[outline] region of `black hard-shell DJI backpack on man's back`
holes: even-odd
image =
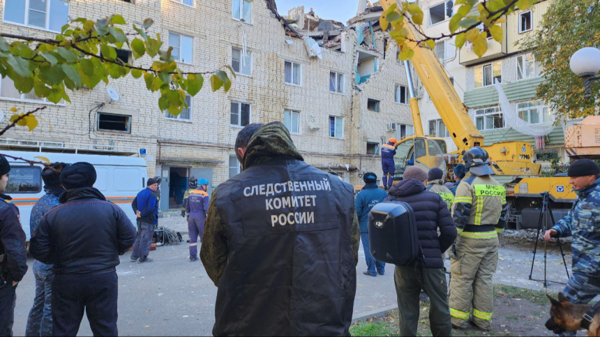
[[[414,211],[406,202],[376,204],[369,213],[369,250],[375,260],[424,267]]]

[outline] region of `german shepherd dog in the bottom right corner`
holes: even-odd
[[[552,308],[550,309],[550,319],[546,322],[546,328],[554,331],[555,334],[561,334],[564,331],[577,331],[583,329],[581,321],[583,315],[592,307],[590,304],[572,304],[567,301],[562,293],[558,293],[558,301],[546,294]],[[594,314],[587,336],[600,337],[600,311]]]

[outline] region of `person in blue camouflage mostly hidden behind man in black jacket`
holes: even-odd
[[[31,237],[36,233],[44,214],[61,204],[59,197],[65,189],[61,186],[59,177],[66,166],[65,163],[54,163],[42,170],[46,195],[40,197],[31,209],[31,218],[29,218]],[[36,297],[33,299],[33,307],[27,318],[25,336],[52,336],[52,280],[54,280],[52,264],[33,260],[33,275],[36,276]]]

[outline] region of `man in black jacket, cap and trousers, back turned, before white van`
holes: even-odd
[[[29,253],[54,264],[52,335],[77,336],[87,313],[94,336],[117,336],[119,255],[135,241],[135,227],[123,210],[93,188],[96,170],[89,163],[65,167],[66,188],[43,216]]]

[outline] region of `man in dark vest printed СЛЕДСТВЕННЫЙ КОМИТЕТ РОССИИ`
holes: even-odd
[[[256,126],[246,128],[238,138]],[[360,237],[352,186],[304,163],[280,122],[241,143],[243,172],[213,191],[200,251],[218,286],[213,334],[348,335]]]

